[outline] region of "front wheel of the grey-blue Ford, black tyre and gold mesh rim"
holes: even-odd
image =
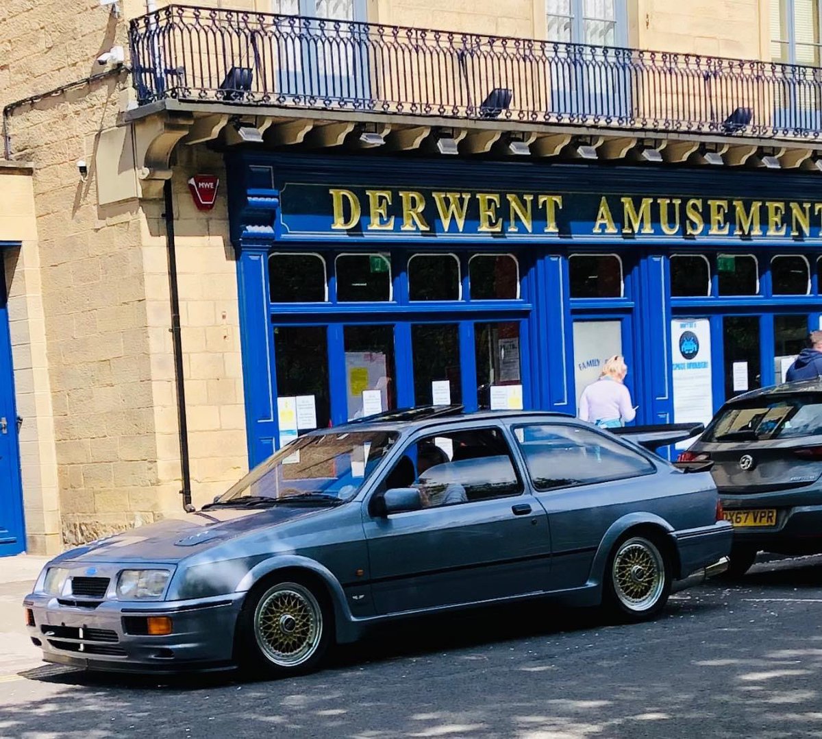
[[[256,588],[240,616],[240,660],[266,676],[312,672],[331,634],[325,598],[295,580]]]

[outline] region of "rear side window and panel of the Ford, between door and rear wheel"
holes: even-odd
[[[657,473],[643,453],[586,425],[535,422],[515,426],[534,496],[551,529],[550,588],[578,588],[588,580],[605,532],[625,514],[662,507],[664,485],[640,482]],[[654,492],[656,490],[656,492]]]

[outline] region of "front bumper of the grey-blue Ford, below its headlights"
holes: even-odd
[[[173,602],[104,601],[95,608],[62,605],[32,593],[32,642],[46,662],[113,672],[180,672],[233,667],[234,632],[245,593]],[[167,616],[171,633],[136,633],[147,616]]]

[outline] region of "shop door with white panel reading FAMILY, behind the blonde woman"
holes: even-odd
[[[614,355],[625,357],[628,374],[625,384],[634,397],[635,365],[630,351],[629,318],[597,318],[574,321],[574,383],[576,405],[582,391],[599,379],[605,361]],[[641,411],[637,411],[640,413]]]

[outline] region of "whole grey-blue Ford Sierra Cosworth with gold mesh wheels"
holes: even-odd
[[[53,559],[29,634],[47,662],[289,675],[432,611],[553,597],[649,619],[723,569],[732,528],[709,472],[633,438],[459,407],[313,431],[201,510]]]

